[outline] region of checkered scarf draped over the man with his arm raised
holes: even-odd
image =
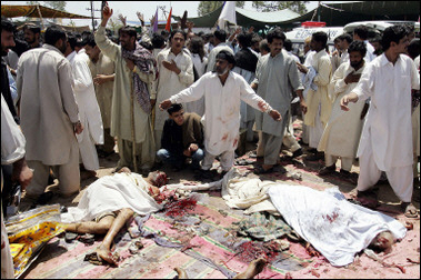
[[[153,58],[152,53],[150,53],[147,49],[141,47],[138,42],[136,42],[134,50],[129,51],[122,49],[122,57],[124,59],[132,60],[141,72],[151,73],[153,68],[158,76],[158,67],[156,59]],[[138,100],[140,107],[143,109],[146,113],[151,113],[152,107],[147,83],[140,80],[139,74],[133,73],[133,84],[134,97]]]

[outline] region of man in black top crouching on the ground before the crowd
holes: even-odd
[[[180,171],[187,158],[192,160],[192,169],[199,169],[204,157],[203,128],[197,113],[184,113],[181,104],[172,104],[168,110],[169,119],[162,130],[161,149],[157,157]]]

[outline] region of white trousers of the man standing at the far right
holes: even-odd
[[[368,146],[364,153],[360,157],[360,176],[358,178],[357,190],[367,191],[373,187],[379,181],[381,172],[382,170],[375,164],[372,147]],[[402,202],[411,202],[413,191],[412,166],[393,167],[387,170],[385,174],[394,194]]]

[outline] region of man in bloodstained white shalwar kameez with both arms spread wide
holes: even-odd
[[[217,72],[203,74],[190,88],[160,103],[160,109],[164,110],[172,103],[190,102],[204,96],[202,123],[206,156],[202,170],[210,170],[218,156],[223,172],[232,168],[239,141],[241,100],[254,109],[265,111],[272,119],[281,120],[279,112],[255,94],[244,78],[231,71],[234,64],[232,53],[220,51],[217,56]]]

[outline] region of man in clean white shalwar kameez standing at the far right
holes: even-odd
[[[357,88],[341,100],[342,109],[348,111],[349,102],[371,98],[357,153],[360,158],[358,197],[362,203],[375,203],[377,198],[369,189],[378,182],[381,171],[385,171],[402,201],[404,214],[417,217],[411,203],[411,89],[420,89],[420,78],[411,58],[402,54],[409,44],[405,28],[387,28],[382,44],[384,53],[365,67]]]

